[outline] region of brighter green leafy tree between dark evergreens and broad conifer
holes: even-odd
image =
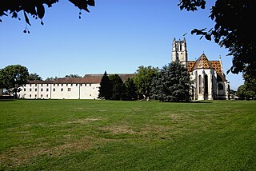
[[[145,97],[149,97],[151,83],[153,78],[158,73],[158,68],[152,66],[139,66],[138,70],[134,76],[134,83],[138,90],[138,94],[141,94]]]

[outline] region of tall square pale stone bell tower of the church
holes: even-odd
[[[186,67],[187,62],[187,50],[186,50],[186,39],[178,41],[174,38],[173,47],[171,52],[171,62],[179,61]]]

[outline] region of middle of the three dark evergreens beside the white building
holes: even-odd
[[[110,75],[110,82],[112,85],[112,96],[111,100],[121,100],[123,94],[123,82],[118,74]]]

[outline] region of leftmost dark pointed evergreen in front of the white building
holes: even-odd
[[[100,99],[109,100],[112,97],[112,85],[106,71],[103,74],[98,92],[98,98]]]

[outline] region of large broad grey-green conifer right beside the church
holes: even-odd
[[[160,101],[189,101],[190,74],[180,62],[163,66],[152,82],[151,96]]]

